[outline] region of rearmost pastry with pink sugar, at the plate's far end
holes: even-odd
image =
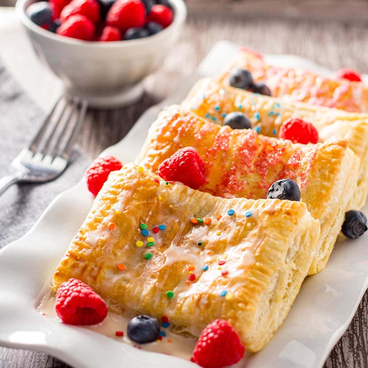
[[[250,71],[255,82],[266,83],[272,96],[288,96],[293,101],[351,112],[368,112],[368,88],[362,82],[335,80],[309,70],[273,66],[261,54],[250,50],[239,52],[220,76],[225,84],[229,83],[229,72],[234,68]]]

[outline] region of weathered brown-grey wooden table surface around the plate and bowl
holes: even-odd
[[[272,17],[267,20],[224,19],[221,14],[211,13],[206,17],[190,14],[180,41],[167,55],[161,70],[146,80],[147,92],[142,100],[118,110],[89,111],[79,144],[84,152],[95,157],[107,146],[118,142],[142,112],[173,92],[180,79],[193,72],[220,39],[228,39],[260,52],[297,54],[332,69],[351,67],[368,73],[366,26],[364,22],[286,21]],[[353,321],[336,344],[325,367],[368,368],[367,295],[364,295]],[[67,366],[44,353],[0,347],[0,367]]]

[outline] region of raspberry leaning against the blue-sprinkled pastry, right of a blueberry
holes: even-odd
[[[290,139],[290,141],[294,143],[317,143],[318,131],[307,121],[298,118],[290,118],[281,125],[279,138]]]

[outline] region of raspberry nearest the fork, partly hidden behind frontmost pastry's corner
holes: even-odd
[[[85,173],[88,190],[97,195],[110,172],[120,170],[121,167],[121,162],[113,156],[96,158]]]

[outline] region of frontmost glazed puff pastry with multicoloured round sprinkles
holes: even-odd
[[[175,330],[194,335],[227,319],[245,347],[258,351],[287,315],[318,236],[302,202],[213,197],[127,164],[99,192],[52,289],[75,277],[114,312],[167,316]]]

